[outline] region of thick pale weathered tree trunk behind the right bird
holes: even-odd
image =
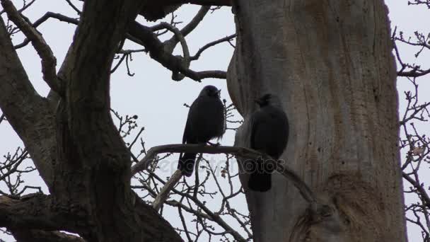
[[[262,241],[406,241],[395,62],[382,0],[238,0],[228,91],[245,123],[263,93],[281,96],[291,134],[282,159],[329,204],[315,221],[288,180],[247,191]],[[247,175],[242,175],[246,187]]]

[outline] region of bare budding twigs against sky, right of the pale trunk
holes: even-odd
[[[409,5],[429,8],[429,1],[408,1]],[[426,179],[430,163],[429,130],[429,101],[422,100],[424,88],[420,81],[428,81],[430,67],[424,66],[419,57],[430,50],[430,33],[414,31],[407,36],[397,27],[393,30],[395,57],[397,60],[398,81],[408,84],[405,93],[399,93],[405,98],[406,107],[400,110],[400,149],[402,150],[402,176],[405,180],[405,196],[409,201],[405,204],[407,222],[421,231],[422,241],[430,241],[430,198],[429,181]],[[405,61],[405,47],[414,48],[414,60]],[[411,59],[411,58],[407,58]]]

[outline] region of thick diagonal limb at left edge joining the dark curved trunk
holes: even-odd
[[[54,114],[28,79],[0,19],[0,108],[27,147],[48,188],[55,159]]]

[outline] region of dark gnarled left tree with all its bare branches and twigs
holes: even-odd
[[[216,8],[202,6],[192,21],[179,29],[176,27],[175,15],[172,15],[170,23],[144,26],[135,22],[134,18],[140,12],[134,12],[135,9],[142,9],[141,14],[148,19],[161,18],[166,13],[164,5],[144,5],[134,1],[91,3],[94,5],[85,3],[83,9],[74,5],[74,2],[67,1],[76,11],[78,19],[48,12],[31,23],[23,12],[34,2],[23,1],[23,7],[16,9],[11,1],[1,1],[4,7],[1,13],[7,14],[8,18],[8,25],[1,26],[1,52],[5,53],[1,59],[1,69],[4,70],[1,72],[1,79],[4,80],[1,88],[8,93],[1,97],[3,111],[1,121],[7,118],[6,121],[16,129],[26,147],[17,149],[15,154],[8,154],[1,169],[3,174],[1,178],[9,188],[2,197],[4,202],[2,213],[5,217],[1,226],[5,226],[8,233],[13,234],[19,241],[34,241],[35,238],[40,241],[81,240],[58,231],[79,234],[87,241],[141,241],[141,239],[178,241],[180,240],[178,235],[181,233],[190,240],[197,240],[200,236],[209,236],[209,238],[219,236],[225,240],[241,241],[249,239],[251,234],[248,210],[235,208],[230,203],[234,197],[243,195],[243,190],[240,185],[237,185],[237,171],[236,174],[229,172],[233,157],[231,155],[226,155],[226,163],[222,168],[209,166],[208,161],[202,158],[200,163],[201,166],[207,167],[207,173],[201,179],[197,178],[194,184],[187,184],[185,180],[176,184],[173,192],[177,196],[172,195],[168,201],[162,201],[178,209],[183,221],[183,228],[176,229],[180,233],[177,233],[155,209],[149,206],[160,192],[160,186],[165,183],[165,180],[155,171],[159,162],[166,156],[158,156],[145,171],[134,169],[135,179],[141,185],[130,185],[132,162],[137,162],[141,159],[139,156],[146,154],[143,139],[140,139],[140,154],[131,154],[130,150],[133,145],[139,143],[139,137],[144,129],[136,129],[138,127],[136,115],[123,117],[111,110],[107,93],[109,76],[121,64],[125,64],[127,73],[133,75],[132,70],[129,69],[129,62],[132,61],[132,54],[138,52],[149,53],[153,59],[171,69],[173,79],[177,81],[184,76],[189,76],[196,81],[209,77],[225,78],[225,71],[192,71],[189,69],[190,62],[199,59],[205,50],[214,45],[221,42],[231,43],[235,34],[207,43],[194,55],[190,55],[185,42],[185,36],[197,27],[208,12]],[[123,9],[126,14],[113,13],[116,9]],[[104,13],[96,15],[95,13],[100,10]],[[45,21],[51,19],[79,25],[74,44],[71,45],[69,54],[58,73],[52,50],[36,30]],[[114,23],[108,27],[109,30],[105,29],[107,26],[104,24],[108,19]],[[102,25],[104,27],[100,28]],[[158,36],[168,32],[173,33],[173,37],[161,42]],[[23,33],[25,40],[13,47],[10,39],[17,33]],[[91,34],[88,35],[88,33]],[[91,40],[86,39],[89,36],[92,36]],[[142,48],[123,49],[126,39],[137,42]],[[100,45],[100,40],[103,40],[101,41],[103,45]],[[29,43],[40,55],[43,78],[52,88],[47,98],[42,98],[35,92],[14,50],[25,47]],[[181,45],[183,57],[173,55],[176,45]],[[96,50],[95,47],[101,49]],[[105,48],[109,50],[105,51]],[[86,57],[79,54],[83,53],[81,50],[84,49],[88,50]],[[100,51],[103,54],[100,55],[98,53]],[[97,59],[95,62],[94,58]],[[81,60],[78,61],[78,59]],[[117,62],[112,64],[114,59],[117,59]],[[88,62],[91,62],[91,65],[88,65]],[[92,67],[89,68],[90,66]],[[93,72],[91,69],[97,70]],[[86,84],[81,86],[78,83],[80,81]],[[74,89],[72,86],[79,87],[79,90],[71,91]],[[226,116],[232,124],[240,122],[231,120],[233,110],[232,105],[226,105]],[[80,113],[79,117],[75,116],[78,113]],[[88,116],[89,113],[93,115]],[[115,121],[112,120],[110,113],[115,117],[119,130],[115,127]],[[134,131],[137,131],[135,137],[127,142],[127,138],[131,137]],[[95,133],[98,133],[97,137],[93,136]],[[79,142],[78,139],[83,137],[86,137],[87,141]],[[28,154],[31,155],[37,171],[48,186],[50,195],[43,195],[40,188],[23,187],[20,174],[35,170],[32,167],[21,168],[23,161],[29,158]],[[214,179],[216,184],[221,184],[216,175],[219,172],[224,174],[221,178],[225,177],[229,189],[223,192],[219,185],[219,191],[207,191],[205,184],[208,179]],[[12,173],[15,176],[12,176]],[[235,186],[233,186],[233,179],[237,180],[234,183]],[[37,189],[39,192],[21,196],[30,188]],[[136,195],[134,190],[136,192],[144,190],[144,192]],[[220,192],[219,196],[222,197],[221,207],[216,212],[212,212],[212,208],[208,208],[209,205],[202,200],[202,196],[214,197],[217,192]],[[110,202],[99,204],[102,201]],[[25,217],[25,214],[33,215]],[[204,214],[203,217],[202,214]],[[188,220],[192,216],[196,217],[195,229],[190,228],[191,225],[188,225],[187,229],[185,217]],[[231,228],[231,221],[226,222],[226,217],[231,217],[236,224],[243,227],[245,238]],[[149,222],[151,225],[144,226]]]

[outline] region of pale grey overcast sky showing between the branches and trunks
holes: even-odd
[[[22,1],[13,0],[13,3],[21,6]],[[407,0],[387,0],[385,3],[390,8],[392,29],[395,26],[399,26],[399,30],[404,31],[407,36],[412,35],[415,30],[430,33],[430,25],[428,24],[429,9],[424,6],[407,6]],[[180,8],[176,12],[178,15],[177,21],[187,23],[197,13],[198,9],[199,7],[197,6]],[[66,4],[66,1],[59,0],[37,0],[34,6],[24,13],[31,21],[35,21],[46,11],[76,17]],[[3,18],[5,17],[4,15],[2,16]],[[61,64],[71,44],[75,26],[52,20],[43,23],[38,30],[43,33],[43,37],[52,47],[57,57],[57,63]],[[234,32],[233,15],[230,8],[221,8],[221,10],[208,14],[201,25],[187,37],[190,52],[194,54],[199,47],[202,47],[207,42],[223,38]],[[15,44],[21,40],[22,36],[20,35],[13,39]],[[126,46],[129,48],[136,47],[130,44]],[[414,50],[407,46],[401,46],[401,50],[405,60],[415,61]],[[45,96],[49,89],[45,82],[42,81],[40,59],[37,57],[33,47],[28,45],[28,47],[19,50],[18,54],[33,85],[40,94]],[[233,48],[228,43],[217,45],[204,52],[197,62],[192,62],[191,68],[194,70],[221,69],[225,71],[232,54]],[[203,86],[212,84],[221,88],[221,98],[226,98],[228,103],[231,102],[226,91],[225,80],[204,79],[202,83],[197,83],[191,79],[184,79],[176,82],[171,80],[170,71],[162,67],[158,62],[151,60],[146,54],[134,54],[133,60],[130,64],[131,71],[135,74],[133,77],[127,76],[127,69],[125,69],[124,65],[112,75],[112,108],[123,115],[129,114],[142,117],[139,118],[138,122],[140,126],[145,127],[144,140],[146,148],[160,144],[180,143],[182,141],[182,132],[188,111],[183,106],[183,103],[192,103]],[[422,54],[418,61],[424,67],[429,67],[429,54]],[[424,96],[424,90],[427,90],[427,93],[430,90],[429,78],[421,79],[420,83],[422,84],[420,88],[423,90],[422,101],[425,100],[424,98],[429,100],[430,96]],[[405,104],[405,102],[402,102],[404,99],[402,93],[408,88],[411,88],[411,86],[407,84],[406,80],[398,80],[401,98],[400,109],[404,108]],[[233,144],[233,137],[233,132],[227,132],[222,144]],[[6,154],[8,151],[13,152],[16,146],[21,144],[22,142],[13,132],[13,129],[2,123],[0,125],[0,154]],[[176,158],[173,157],[172,159],[175,160]],[[32,175],[29,179],[37,180],[37,174]],[[243,197],[242,202],[245,203],[244,199]],[[410,226],[408,230],[409,241],[419,241],[421,238],[420,234],[418,234],[419,230]],[[0,235],[0,238],[13,241],[10,236]]]

